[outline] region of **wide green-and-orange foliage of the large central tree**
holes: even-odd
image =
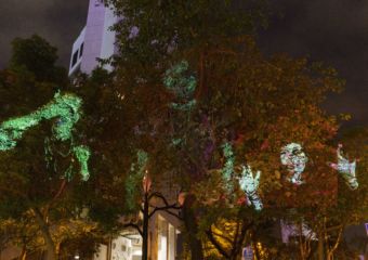
[[[338,121],[320,103],[344,84],[334,69],[287,55],[264,57],[249,36],[264,13],[250,1],[107,2],[124,16],[115,27],[116,72],[96,69],[78,89],[87,102],[83,128],[97,151],[93,169],[104,172],[81,190],[90,216],[118,226],[119,213],[133,208],[143,177],[139,161],[129,170],[137,147],[149,154],[154,177],[172,172],[196,195],[197,235],[203,239],[213,225],[228,230],[227,221],[235,226],[253,221],[257,233],[271,217],[318,224],[328,208],[350,212],[341,203],[354,195],[346,193],[336,204],[337,174],[326,165],[334,157],[329,145]],[[279,159],[280,147],[291,142],[303,144],[310,158],[306,184],[300,187],[285,181],[288,171]],[[244,205],[237,185],[235,199],[225,198],[231,169],[237,177],[244,162],[262,171],[259,214]],[[298,212],[285,210],[290,207]],[[320,214],[311,216],[311,207]],[[233,246],[238,245],[226,250]]]

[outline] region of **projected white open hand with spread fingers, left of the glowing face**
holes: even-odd
[[[260,211],[263,208],[263,204],[257,190],[260,185],[261,171],[257,171],[255,177],[253,177],[250,166],[241,166],[241,168],[242,172],[241,178],[239,179],[240,188],[247,194],[248,206],[253,205],[255,210]]]

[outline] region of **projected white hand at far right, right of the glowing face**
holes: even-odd
[[[342,144],[339,144],[337,148],[338,164],[330,164],[330,166],[337,171],[339,171],[339,173],[344,178],[350,188],[356,190],[359,185],[355,176],[356,160],[350,162],[349,159],[342,156],[341,148]]]

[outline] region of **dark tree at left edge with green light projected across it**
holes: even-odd
[[[65,121],[68,119],[63,119],[56,114],[50,118],[42,114],[43,112],[57,110],[57,102],[49,103],[49,106],[31,114],[48,103],[56,89],[67,87],[66,70],[55,66],[56,58],[56,49],[38,36],[32,36],[29,39],[15,39],[11,65],[0,74],[0,99],[4,108],[0,115],[1,142],[5,141],[2,138],[8,136],[3,123],[10,117],[14,119],[17,116],[29,115],[25,119],[29,119],[28,123],[34,126],[26,133],[23,130],[28,127],[18,132],[12,132],[19,136],[24,134],[22,140],[16,140],[18,143],[14,150],[3,152],[2,147],[0,154],[0,217],[1,219],[13,219],[26,229],[36,226],[37,235],[28,238],[35,243],[41,234],[42,246],[47,248],[47,258],[50,260],[56,259],[57,245],[61,243],[55,237],[53,227],[60,226],[62,222],[65,224],[78,216],[79,212],[76,211],[78,205],[73,199],[73,191],[82,185],[80,179],[71,180],[74,173],[79,172],[78,167],[73,169],[74,160],[78,157],[69,153],[73,144],[61,142],[64,138],[48,138],[54,134],[63,135],[62,125],[69,123],[73,119]],[[62,96],[65,98],[65,95]],[[78,98],[75,101],[77,100],[79,101]],[[48,118],[51,121],[36,120],[31,116],[40,116],[39,119]],[[53,120],[54,117],[64,121]],[[19,117],[17,118],[19,119]],[[16,119],[8,120],[8,122],[10,121],[21,122],[21,119],[18,121]],[[67,131],[67,133],[69,132],[71,133],[73,129]],[[13,138],[16,139],[15,135]],[[74,141],[77,140],[82,140],[82,138],[77,135]],[[88,225],[88,223],[86,224]],[[28,240],[23,243],[26,249],[28,244]]]

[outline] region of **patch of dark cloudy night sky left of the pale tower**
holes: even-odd
[[[38,34],[58,49],[68,66],[74,39],[86,24],[89,0],[0,0],[0,68],[6,66],[11,41]]]

